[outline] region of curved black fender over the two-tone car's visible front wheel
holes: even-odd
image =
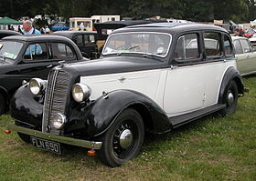
[[[107,96],[101,96],[81,111],[73,111],[69,116],[67,128],[83,127],[88,136],[104,133],[115,118],[127,107],[136,109],[142,117],[147,117],[155,133],[164,133],[171,129],[165,112],[151,98],[132,90],[116,90]],[[72,128],[71,128],[72,129]],[[71,130],[69,130],[71,131]]]

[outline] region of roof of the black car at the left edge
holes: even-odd
[[[69,38],[60,35],[10,35],[2,38],[2,40],[16,40],[25,42],[50,42],[50,41],[69,41]]]

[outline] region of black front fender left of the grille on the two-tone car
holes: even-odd
[[[27,126],[41,129],[43,105],[37,102],[39,98],[31,93],[28,84],[20,86],[11,99],[10,115],[16,121],[22,121],[24,124],[26,121]]]

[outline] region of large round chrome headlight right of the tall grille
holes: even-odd
[[[91,88],[88,85],[77,83],[73,85],[72,96],[77,102],[82,102],[91,96]]]

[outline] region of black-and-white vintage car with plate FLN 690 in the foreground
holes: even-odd
[[[21,86],[10,106],[15,125],[5,133],[14,130],[58,154],[62,144],[86,147],[107,166],[121,166],[138,155],[145,132],[164,134],[214,112],[231,114],[243,93],[223,28],[124,27],[108,37],[100,59],[59,65],[48,81],[35,77]]]

